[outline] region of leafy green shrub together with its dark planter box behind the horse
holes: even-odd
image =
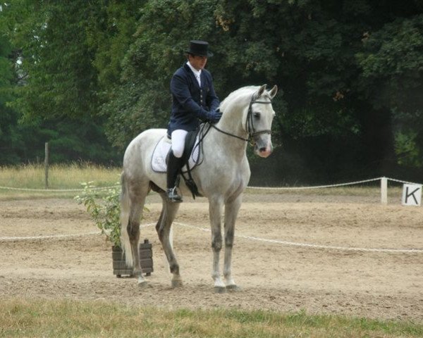
[[[82,183],[82,193],[75,196],[79,204],[84,204],[95,225],[102,231],[106,240],[111,243],[114,275],[133,276],[133,268],[125,262],[125,253],[121,249],[121,204],[118,186],[99,189],[92,182]],[[150,275],[153,271],[152,244],[148,239],[140,244],[140,261],[142,271]]]

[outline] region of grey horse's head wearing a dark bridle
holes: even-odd
[[[254,144],[255,154],[267,157],[273,151],[271,144],[271,123],[275,112],[271,106],[271,99],[278,92],[275,85],[271,91],[266,90],[266,84],[259,87],[252,95],[250,106],[245,116],[245,131]]]

